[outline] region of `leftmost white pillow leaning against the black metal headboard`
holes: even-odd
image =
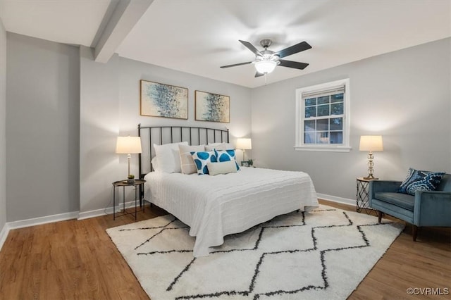
[[[157,145],[154,144],[156,165],[161,172],[180,173],[180,151],[178,145],[188,142]]]

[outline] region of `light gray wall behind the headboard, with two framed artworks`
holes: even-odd
[[[112,206],[111,182],[127,175],[127,158],[115,154],[116,137],[137,135],[137,125],[228,127],[230,141],[250,136],[251,91],[187,73],[113,56],[96,63],[92,50],[80,49],[80,218]],[[140,115],[140,80],[188,88],[188,120]],[[194,90],[230,96],[230,123],[194,121]],[[137,175],[137,155],[131,159]]]

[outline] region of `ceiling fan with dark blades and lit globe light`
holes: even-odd
[[[255,77],[263,76],[265,74],[271,73],[276,65],[281,65],[283,67],[295,68],[299,70],[304,70],[304,68],[309,65],[308,63],[298,63],[297,61],[285,61],[283,58],[285,56],[290,56],[292,54],[297,54],[298,52],[305,51],[307,49],[311,49],[311,46],[307,42],[300,42],[299,44],[295,44],[293,46],[289,46],[283,50],[274,52],[268,50],[268,46],[271,46],[271,39],[262,39],[260,44],[264,47],[263,51],[258,51],[251,43],[239,40],[241,44],[245,45],[247,49],[252,51],[255,54],[255,61],[247,61],[246,63],[235,63],[233,65],[223,65],[221,68],[230,68],[236,67],[237,65],[248,65],[249,63],[253,63],[257,70],[255,73]]]

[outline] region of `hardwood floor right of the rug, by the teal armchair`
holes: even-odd
[[[320,203],[355,211],[352,206],[324,200]],[[408,288],[416,293],[423,289],[423,294],[409,295]],[[441,295],[424,292],[427,288],[435,293],[440,288]],[[420,228],[413,242],[412,225],[406,225],[348,299],[451,299],[451,228]]]

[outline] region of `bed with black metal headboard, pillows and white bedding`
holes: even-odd
[[[307,173],[239,167],[234,157],[227,162],[208,164],[212,171],[218,165],[228,165],[230,168],[226,173],[199,175],[202,172],[199,169],[196,173],[185,172],[180,158],[185,148],[201,149],[203,146],[204,151],[217,157],[221,157],[221,153],[234,153],[233,146],[228,143],[228,130],[138,125],[138,133],[143,140],[143,153],[139,156],[140,178],[147,181],[142,195],[146,201],[190,226],[190,235],[196,237],[194,257],[208,256],[210,247],[223,244],[226,235],[243,232],[277,215],[296,210],[311,211],[319,206]],[[156,163],[155,159],[162,157],[161,149],[165,147],[171,149],[165,150],[166,158],[171,163],[172,160],[177,163],[179,158],[182,171],[177,172],[177,167],[173,171],[173,165],[161,170],[161,165]],[[204,152],[189,152],[193,158],[197,153]],[[191,158],[189,154],[187,156]],[[240,170],[232,170],[232,164]]]

